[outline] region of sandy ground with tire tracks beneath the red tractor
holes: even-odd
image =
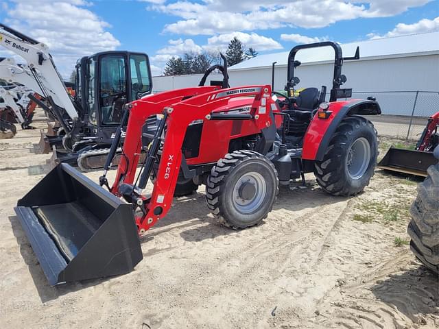
[[[0,328],[439,326],[438,277],[405,244],[417,181],[382,171],[355,198],[307,175],[308,188],[282,188],[268,219],[241,231],[217,224],[200,188],[147,232],[132,273],[50,287],[13,210],[44,176],[38,138],[0,141]]]

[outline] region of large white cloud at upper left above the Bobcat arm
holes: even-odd
[[[110,32],[110,24],[82,0],[52,2],[19,0],[6,11],[6,24],[49,46],[63,77],[69,77],[76,60],[99,51],[115,50],[121,43]]]

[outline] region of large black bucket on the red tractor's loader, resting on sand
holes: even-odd
[[[128,273],[143,258],[130,204],[59,164],[14,208],[52,286]]]

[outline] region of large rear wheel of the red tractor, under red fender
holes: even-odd
[[[314,164],[317,182],[332,195],[361,193],[374,175],[377,130],[363,117],[346,117],[335,130],[322,161]]]

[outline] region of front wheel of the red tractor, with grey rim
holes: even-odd
[[[207,206],[224,226],[248,228],[268,216],[278,185],[268,158],[255,151],[234,151],[218,160],[207,178]]]

